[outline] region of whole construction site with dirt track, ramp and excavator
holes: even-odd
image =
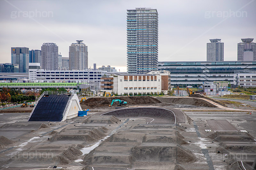
[[[253,170],[256,103],[243,102],[45,91],[0,111],[0,169]]]

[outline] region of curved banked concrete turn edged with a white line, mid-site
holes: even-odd
[[[157,107],[122,108],[101,115],[113,115],[119,119],[143,118],[146,122],[154,123],[176,123],[176,116],[171,110]]]

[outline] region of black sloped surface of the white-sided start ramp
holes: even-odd
[[[68,99],[65,94],[42,97],[28,121],[60,122]]]

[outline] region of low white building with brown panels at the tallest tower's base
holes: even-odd
[[[167,94],[171,88],[169,71],[154,71],[147,74],[117,73],[101,78],[101,91],[118,95]]]

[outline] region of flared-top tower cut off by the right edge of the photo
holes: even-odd
[[[237,43],[237,61],[256,61],[256,43],[253,38],[243,38]]]

